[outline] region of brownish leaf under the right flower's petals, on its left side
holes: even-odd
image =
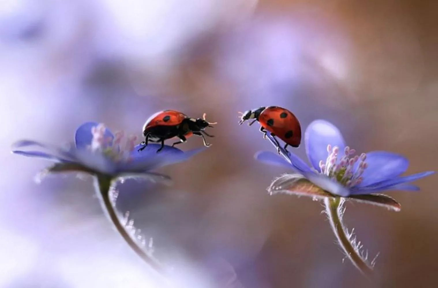
[[[272,181],[269,194],[285,193],[307,196],[316,199],[335,198],[336,196],[311,183],[301,174],[285,174]]]

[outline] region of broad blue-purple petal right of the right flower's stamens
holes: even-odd
[[[367,153],[365,162],[368,163],[368,167],[362,174],[364,180],[359,185],[360,187],[393,179],[405,173],[409,166],[409,161],[405,157],[386,151]],[[358,163],[359,161],[355,165],[356,168]]]

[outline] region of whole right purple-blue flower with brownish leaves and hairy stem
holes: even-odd
[[[397,201],[378,192],[420,190],[409,182],[427,177],[434,172],[401,176],[409,165],[405,157],[385,151],[357,155],[354,149],[346,146],[338,128],[325,120],[313,121],[304,134],[311,167],[295,154],[280,147],[271,135],[268,135],[268,139],[279,149],[283,157],[266,151],[258,152],[254,157],[261,162],[295,171],[274,180],[268,192],[304,195],[324,200],[325,212],[339,245],[362,273],[370,275],[374,260],[371,263],[367,261],[367,254],[362,253],[360,242],[356,241],[353,233],[348,232],[344,226],[344,201],[354,200],[399,211],[401,206]]]

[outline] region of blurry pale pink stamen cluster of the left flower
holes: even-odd
[[[122,145],[124,140],[123,131],[116,132],[114,139],[112,137],[105,137],[105,131],[106,127],[103,124],[94,126],[91,129],[93,138],[89,149],[93,152],[100,151],[114,161],[129,161],[131,159],[131,152],[134,151],[137,136],[131,135],[127,137],[126,141],[124,141],[124,145]]]

